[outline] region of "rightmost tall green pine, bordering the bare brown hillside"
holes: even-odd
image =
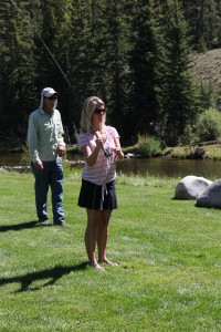
[[[164,72],[165,138],[176,145],[185,127],[194,122],[198,108],[193,80],[190,74],[190,44],[188,25],[179,1],[165,4],[165,49],[167,60]]]

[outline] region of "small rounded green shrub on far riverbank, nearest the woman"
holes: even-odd
[[[161,141],[157,137],[138,135],[136,148],[141,155],[146,157],[152,157],[161,153],[162,144]]]

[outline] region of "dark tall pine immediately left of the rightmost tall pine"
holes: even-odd
[[[131,14],[131,121],[136,133],[152,134],[160,113],[161,59],[160,30],[155,1],[138,0]]]

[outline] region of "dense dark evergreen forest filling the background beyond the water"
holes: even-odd
[[[176,145],[210,106],[192,56],[221,48],[221,0],[1,0],[0,28],[1,139],[25,132],[46,86],[72,143],[91,95],[124,145]]]

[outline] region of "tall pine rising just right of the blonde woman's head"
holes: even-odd
[[[108,120],[117,127],[122,139],[126,139],[125,114],[129,94],[128,28],[126,24],[127,1],[110,0],[103,7],[103,31],[97,30],[97,64],[103,72],[95,79],[101,82],[101,93],[108,105]],[[104,39],[105,35],[105,39]],[[99,46],[102,45],[102,48]],[[126,129],[126,132],[125,132]]]

